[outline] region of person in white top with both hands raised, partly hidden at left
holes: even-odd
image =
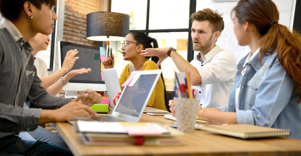
[[[91,68],[82,68],[82,69],[77,69],[77,70],[71,70],[71,68],[74,65],[74,62],[79,58],[75,57],[75,55],[78,53],[77,49],[70,50],[67,52],[67,55],[64,59],[62,68],[60,70],[57,70],[55,73],[51,74],[48,76],[48,71],[47,71],[47,65],[46,63],[39,57],[36,57],[36,54],[39,51],[46,50],[47,46],[49,44],[50,38],[47,35],[37,33],[37,35],[31,39],[29,39],[29,43],[33,48],[32,54],[33,58],[35,59],[34,65],[36,66],[37,69],[37,75],[38,77],[42,80],[41,86],[47,89],[47,92],[51,95],[57,95],[62,88],[64,87],[63,82],[58,82],[60,78],[67,73],[64,77],[63,80],[65,82],[68,82],[73,76],[77,74],[83,74],[83,73],[88,73],[91,71]],[[71,70],[71,71],[70,71]],[[56,83],[55,85],[53,85]],[[53,85],[53,86],[51,86]],[[51,86],[51,87],[50,87]]]

